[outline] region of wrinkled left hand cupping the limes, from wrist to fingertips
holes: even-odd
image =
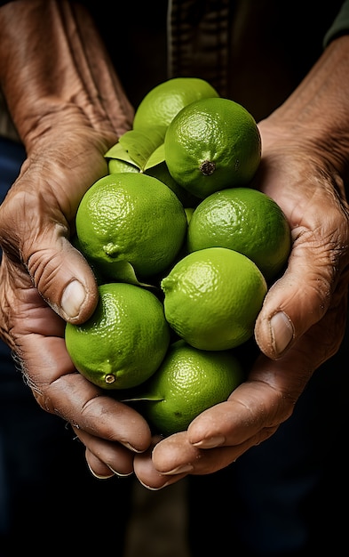
[[[50,129],[0,207],[1,335],[39,405],[73,425],[91,471],[129,474],[134,452],[149,446],[147,423],[76,373],[63,338],[65,319],[83,322],[97,303],[95,278],[69,237],[83,193],[107,174],[103,153],[115,134],[71,118]]]

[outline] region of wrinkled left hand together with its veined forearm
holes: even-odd
[[[103,155],[130,129],[133,109],[83,5],[10,2],[0,27],[0,80],[28,153],[0,207],[1,336],[40,406],[73,425],[91,471],[129,474],[134,452],[149,446],[147,423],[76,372],[63,335],[98,298],[69,242],[76,209],[107,174]]]

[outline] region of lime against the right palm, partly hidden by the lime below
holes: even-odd
[[[286,264],[291,247],[290,225],[274,199],[251,188],[212,193],[196,206],[187,233],[189,252],[229,247],[249,257],[267,281]]]

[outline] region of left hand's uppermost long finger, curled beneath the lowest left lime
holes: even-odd
[[[28,275],[18,267],[17,274],[4,272],[2,277],[8,283],[5,319],[12,349],[39,405],[94,437],[131,451],[146,450],[151,442],[146,420],[75,370],[64,341],[66,323],[44,302]]]

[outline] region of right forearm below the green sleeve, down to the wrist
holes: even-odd
[[[268,118],[282,134],[320,150],[349,177],[349,36],[334,40],[296,91]]]

